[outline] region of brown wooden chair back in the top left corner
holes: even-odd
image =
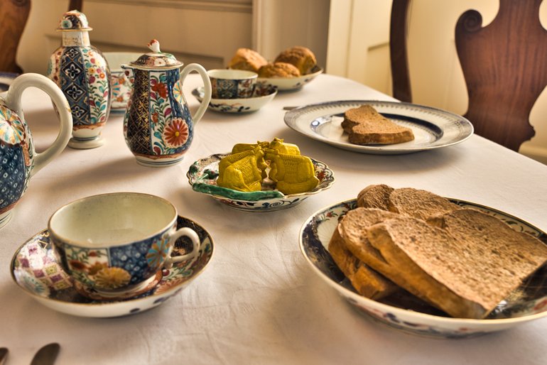
[[[31,0],[0,1],[0,72],[23,72],[16,54],[30,12]]]

